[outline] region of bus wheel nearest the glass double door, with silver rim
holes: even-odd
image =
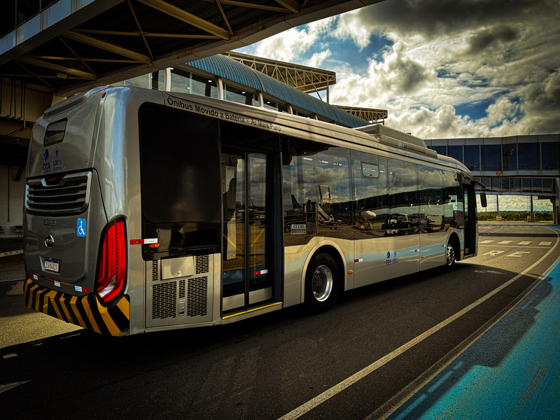
[[[315,314],[327,311],[336,300],[339,271],[328,253],[315,255],[305,274],[305,302]]]

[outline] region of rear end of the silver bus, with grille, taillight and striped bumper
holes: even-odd
[[[24,209],[25,303],[104,335],[127,335],[127,232],[107,215],[94,167],[106,88],[48,109],[34,125]]]

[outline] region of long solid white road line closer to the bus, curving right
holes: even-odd
[[[540,262],[544,261],[545,258],[547,258],[547,256],[550,255],[550,253],[552,253],[552,251],[554,251],[554,248],[556,248],[559,241],[560,241],[560,237],[556,237],[556,243],[554,244],[554,246],[552,248],[550,248],[548,250],[548,252],[545,253],[545,255],[542,255],[542,257],[537,262],[535,262],[533,265],[531,265],[531,267],[528,267],[528,268],[524,269],[522,272],[517,274],[517,276],[514,276],[512,279],[506,281],[501,286],[498,286],[497,288],[492,290],[490,293],[487,293],[486,295],[482,296],[476,302],[473,302],[470,305],[468,305],[468,307],[465,307],[465,308],[461,309],[461,311],[458,311],[456,314],[449,316],[449,318],[447,318],[446,320],[438,323],[437,325],[435,325],[435,327],[432,327],[429,330],[427,330],[426,332],[423,332],[423,334],[419,335],[418,337],[411,339],[406,344],[402,344],[402,346],[400,346],[398,349],[395,349],[395,350],[391,351],[391,353],[386,354],[386,356],[383,356],[379,360],[374,361],[374,363],[372,363],[371,365],[364,367],[362,370],[356,372],[351,377],[348,377],[348,378],[344,379],[344,381],[341,381],[338,384],[336,384],[335,386],[332,386],[332,388],[329,388],[327,391],[325,391],[325,392],[317,395],[315,398],[312,398],[311,400],[305,402],[304,404],[300,405],[300,407],[297,407],[297,408],[293,409],[288,414],[284,414],[278,420],[295,420],[295,419],[298,419],[303,414],[306,414],[307,412],[311,411],[311,409],[314,409],[318,405],[321,405],[323,402],[325,402],[329,398],[337,395],[337,393],[340,393],[340,392],[344,391],[346,388],[348,388],[352,384],[355,384],[360,379],[362,379],[364,377],[367,377],[368,374],[370,374],[370,373],[374,372],[375,370],[379,369],[379,367],[385,365],[386,363],[390,362],[394,358],[397,358],[398,356],[400,356],[402,353],[404,353],[408,349],[411,349],[412,347],[414,347],[416,344],[419,344],[419,342],[422,342],[423,339],[426,339],[426,338],[430,337],[430,335],[435,334],[435,332],[437,332],[437,331],[441,330],[442,328],[444,328],[445,326],[449,325],[450,323],[455,321],[457,318],[463,316],[464,314],[466,314],[471,309],[474,309],[475,307],[477,307],[479,304],[485,302],[486,300],[489,300],[490,297],[492,297],[493,295],[496,295],[496,293],[499,293],[501,290],[505,289],[507,286],[510,286],[511,283],[513,283],[514,281],[516,281],[520,277],[524,276],[531,269],[533,269],[534,267],[539,265]]]

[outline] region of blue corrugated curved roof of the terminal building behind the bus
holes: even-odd
[[[232,80],[241,85],[253,87],[253,89],[270,94],[272,97],[311,113],[316,113],[318,116],[329,118],[339,124],[346,125],[346,127],[362,127],[369,124],[367,121],[351,115],[351,113],[329,105],[321,101],[321,99],[311,97],[309,94],[303,93],[295,89],[295,87],[285,85],[264,73],[253,71],[235,59],[221,54],[188,62],[187,65]]]

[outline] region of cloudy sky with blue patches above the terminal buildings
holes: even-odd
[[[558,0],[386,0],[239,51],[336,71],[332,104],[424,139],[560,132]]]

